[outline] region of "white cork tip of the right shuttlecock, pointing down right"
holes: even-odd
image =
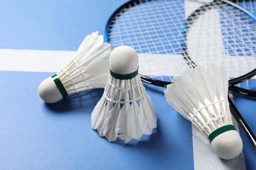
[[[236,158],[243,149],[242,139],[236,130],[221,133],[211,141],[211,146],[214,152],[224,160]]]

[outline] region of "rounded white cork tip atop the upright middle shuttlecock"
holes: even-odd
[[[110,54],[110,70],[120,75],[137,71],[139,58],[130,46],[118,46]]]

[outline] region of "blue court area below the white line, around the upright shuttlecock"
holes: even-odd
[[[91,129],[91,112],[103,90],[48,105],[37,88],[50,75],[0,72],[0,169],[193,168],[191,124],[167,111],[163,88],[145,84],[158,113],[156,132],[137,144],[109,143]]]

